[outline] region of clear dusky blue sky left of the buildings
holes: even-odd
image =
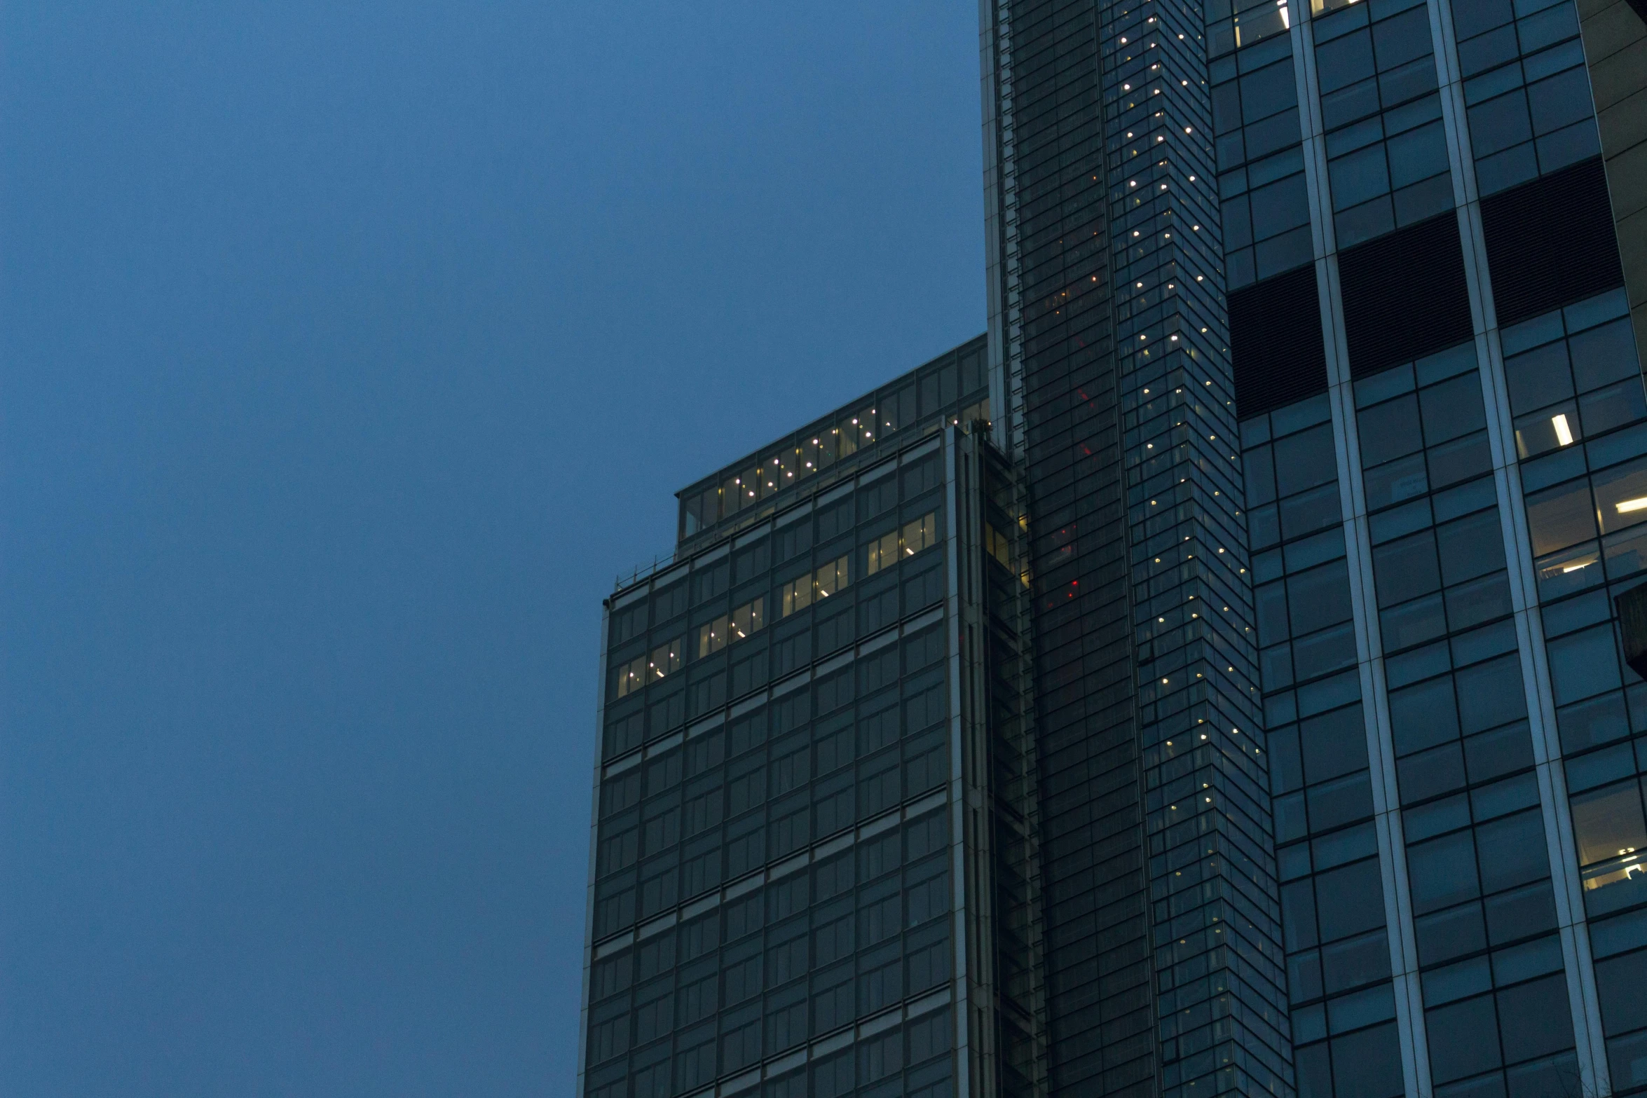
[[[982,331],[977,3],[0,51],[0,1093],[568,1095],[600,599]]]

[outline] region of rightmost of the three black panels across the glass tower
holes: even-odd
[[[1499,324],[1514,324],[1624,281],[1601,160],[1481,199]]]

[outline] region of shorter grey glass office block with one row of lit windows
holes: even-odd
[[[1039,1086],[1024,525],[962,423],[982,349],[753,505],[703,499],[893,402],[682,492],[692,537],[608,599],[580,1093]]]

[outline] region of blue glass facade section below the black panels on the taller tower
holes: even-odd
[[[1242,420],[1301,1091],[1647,1082],[1629,1035],[1647,1021],[1640,973],[1624,975],[1647,955],[1596,960],[1647,938],[1617,928],[1629,915],[1586,928],[1647,899],[1626,742],[1647,711],[1631,716],[1640,685],[1626,688],[1607,598],[1644,565],[1622,525],[1647,492],[1624,313],[1614,290],[1502,331],[1512,392],[1540,379],[1510,405],[1543,405],[1505,431],[1514,466],[1494,466],[1474,342]],[[1555,403],[1583,385],[1563,380],[1575,337],[1591,392],[1624,379],[1591,441]],[[1505,522],[1512,468],[1523,517]]]

